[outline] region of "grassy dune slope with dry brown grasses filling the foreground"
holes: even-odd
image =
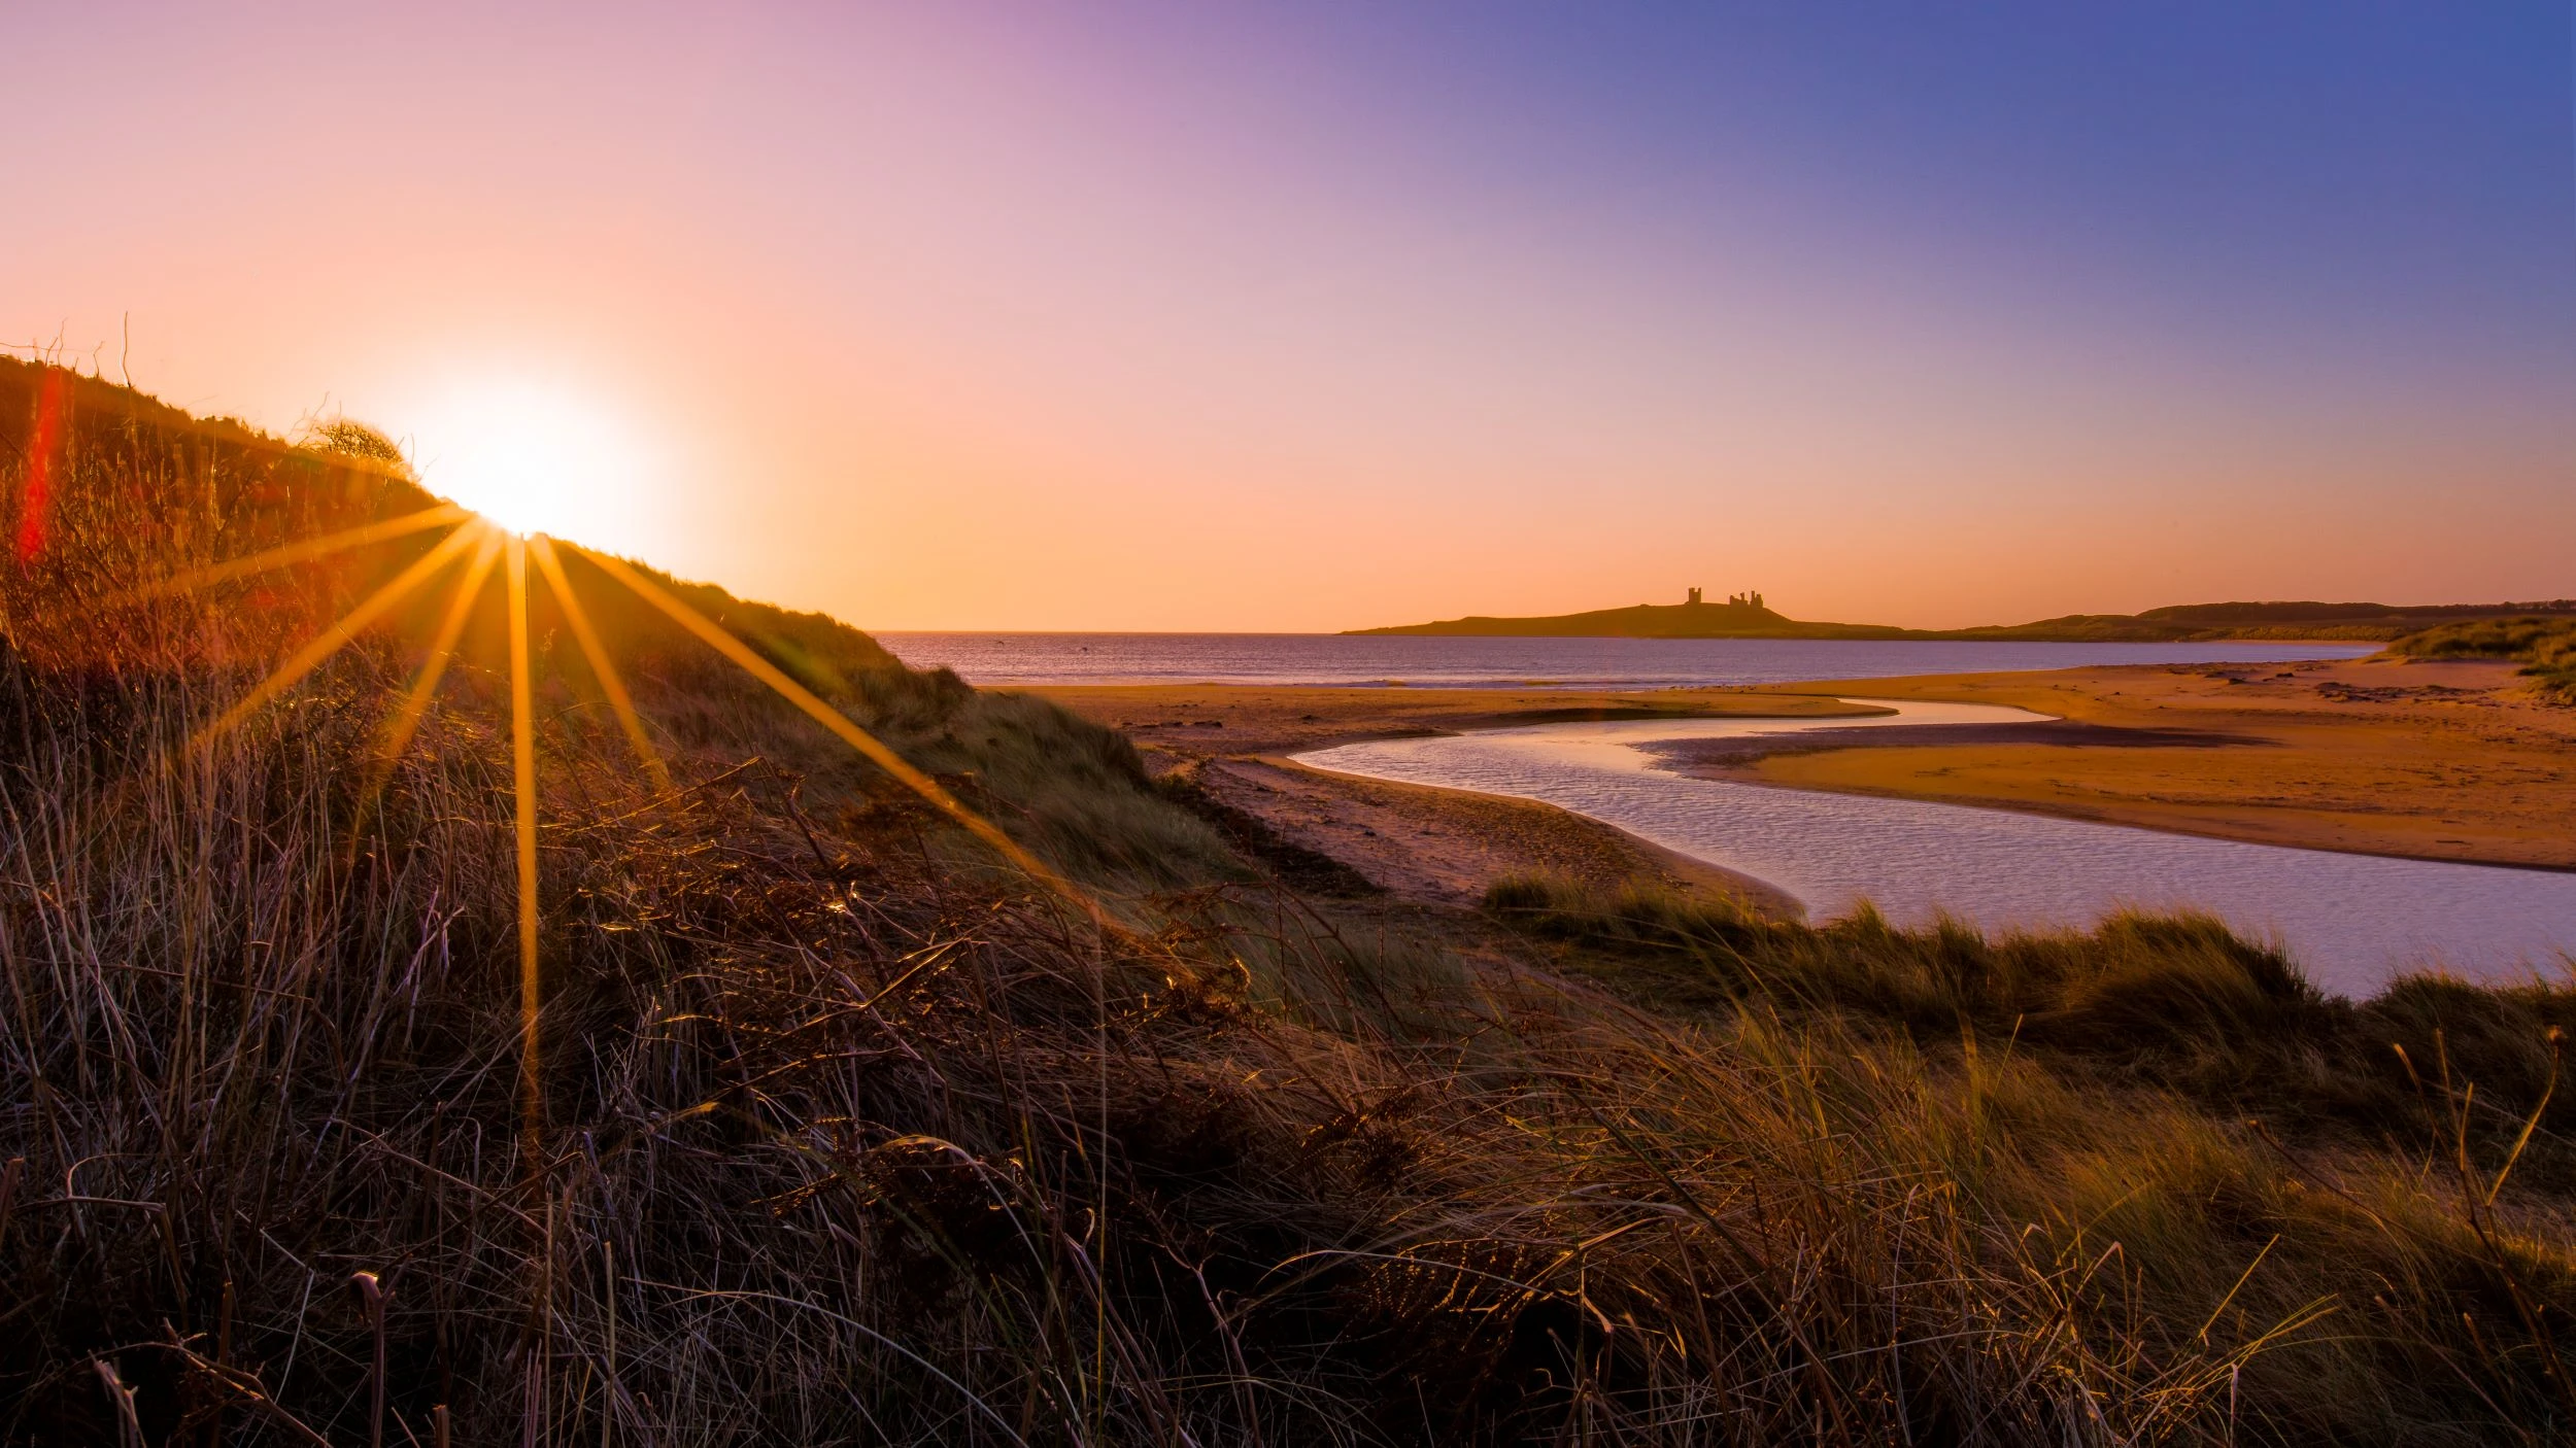
[[[0,368],[10,1443],[2576,1422],[2563,984],[2329,1000],[2192,917],[1309,897],[1110,729],[634,572],[871,763],[562,544],[582,621],[433,590],[240,709],[448,546],[384,531],[435,500],[363,430],[64,379]]]

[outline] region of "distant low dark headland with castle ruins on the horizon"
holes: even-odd
[[[1759,595],[1752,595],[1759,598]],[[1819,624],[1762,603],[1638,603],[1551,618],[1443,618],[1350,634],[1517,636],[1517,639],[2030,639],[2030,642],[2187,642],[2187,639],[2401,639],[2442,624],[2576,613],[2576,598],[2545,603],[2177,603],[2146,613],[2069,613],[2035,624],[1978,629],[1896,629]]]

